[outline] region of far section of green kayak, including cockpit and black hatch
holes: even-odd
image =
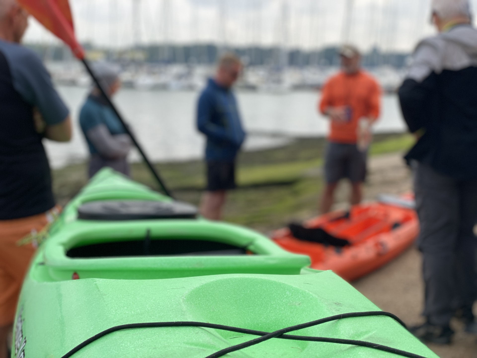
[[[65,208],[31,270],[36,281],[155,280],[216,274],[300,274],[310,265],[249,229],[197,216],[110,169]]]

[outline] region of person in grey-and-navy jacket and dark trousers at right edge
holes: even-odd
[[[414,170],[426,322],[415,336],[448,344],[451,318],[477,334],[477,30],[468,0],[433,0],[436,36],[420,42],[399,97],[417,143]]]

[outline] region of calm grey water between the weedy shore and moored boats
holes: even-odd
[[[78,126],[78,112],[87,89],[60,87],[72,110],[73,141],[68,144],[46,144],[52,166],[62,167],[87,158],[86,146]],[[195,128],[197,93],[141,92],[122,90],[115,102],[133,127],[139,141],[152,160],[200,158],[204,138]],[[285,95],[239,93],[239,105],[246,129],[251,133],[246,150],[277,146],[294,136],[316,137],[327,133],[326,119],[316,110],[319,95],[294,92]],[[403,131],[397,97],[385,96],[383,115],[376,132]],[[137,160],[133,153],[132,160]]]

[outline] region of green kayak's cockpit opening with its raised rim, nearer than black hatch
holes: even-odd
[[[203,219],[77,220],[42,250],[34,278],[43,281],[300,274],[310,265],[257,232]]]

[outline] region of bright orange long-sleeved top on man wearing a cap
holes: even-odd
[[[381,107],[381,88],[376,80],[364,71],[357,74],[340,72],[324,85],[320,111],[328,107],[349,106],[352,117],[349,122],[332,121],[328,139],[335,143],[355,144],[358,121],[362,117],[378,118]]]

